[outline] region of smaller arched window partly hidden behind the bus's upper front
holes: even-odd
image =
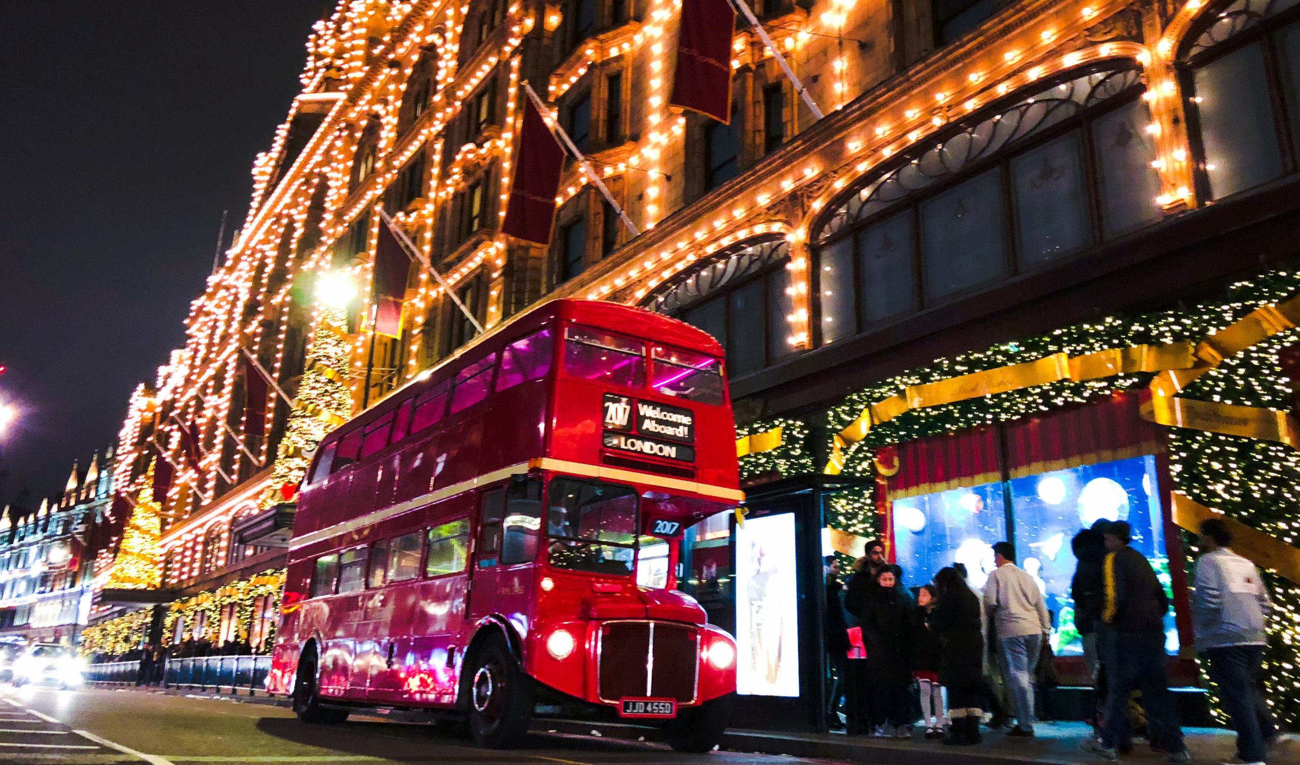
[[[733,377],[758,371],[793,353],[786,262],[783,238],[736,244],[664,282],[642,305],[716,338]]]

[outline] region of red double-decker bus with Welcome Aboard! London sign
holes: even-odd
[[[682,530],[744,496],[722,356],[682,322],[555,300],[328,435],[270,691],[304,722],[459,713],[489,747],[580,701],[712,748],[736,647],[675,587]]]

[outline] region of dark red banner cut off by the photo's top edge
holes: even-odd
[[[731,44],[736,9],[727,0],[681,0],[677,71],[668,103],[731,123]]]

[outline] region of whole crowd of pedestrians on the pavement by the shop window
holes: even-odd
[[[1188,762],[1166,669],[1170,599],[1147,557],[1130,546],[1131,534],[1127,522],[1102,520],[1071,542],[1074,623],[1095,688],[1093,735],[1083,748],[1115,760],[1141,735],[1169,762]],[[1258,570],[1231,542],[1222,520],[1201,525],[1192,626],[1236,731],[1239,760],[1262,765],[1284,738],[1264,699],[1273,607]],[[842,584],[835,556],[826,558],[832,729],[911,739],[919,721],[927,739],[971,746],[983,742],[982,727],[1032,738],[1035,721],[1050,718],[1054,614],[1035,577],[1017,565],[1015,547],[992,547],[996,568],[980,590],[962,564],[909,590],[879,540],[867,543]]]

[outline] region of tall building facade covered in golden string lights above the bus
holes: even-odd
[[[419,266],[402,335],[372,331],[380,205],[489,331],[547,296],[644,305],[710,331],[741,431],[784,422],[788,440],[807,436],[794,456],[786,444],[786,469],[829,458],[826,412],[848,425],[862,408],[850,394],[1197,300],[1295,257],[1300,92],[1279,55],[1300,29],[1294,3],[754,10],[823,119],[744,21],[731,125],[671,109],[666,0],[342,0],[318,22],[303,91],[255,164],[240,236],[121,433],[118,486],[139,487],[155,442],[178,465],[157,497],[162,586],[194,592],[276,565],[278,549],[230,529],[266,513],[302,469],[286,469],[311,445],[286,444],[291,417],[346,417],[472,339]],[[572,162],[549,247],[498,232],[525,81],[638,235]],[[324,273],[358,291],[346,318],[312,296]],[[298,397],[291,410],[269,396],[254,429],[265,435],[244,422],[240,348]],[[979,366],[965,364],[944,369]],[[351,400],[307,384],[313,374]],[[316,392],[304,399],[304,386]],[[788,471],[784,457],[746,458]],[[861,507],[842,517],[871,529]]]

